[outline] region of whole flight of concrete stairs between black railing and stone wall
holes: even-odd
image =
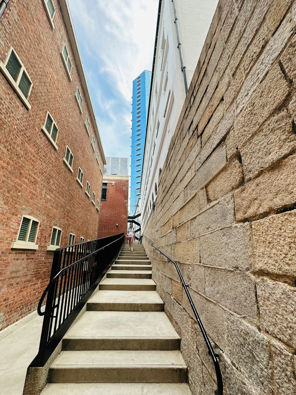
[[[191,395],[142,245],[124,245],[63,339],[42,395]]]

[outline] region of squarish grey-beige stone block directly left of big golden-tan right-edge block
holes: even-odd
[[[250,270],[252,240],[249,222],[200,236],[200,258],[203,265]]]

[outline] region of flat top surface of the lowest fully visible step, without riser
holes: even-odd
[[[51,365],[51,369],[68,367],[108,366],[117,367],[176,367],[187,368],[180,351],[134,351],[134,350],[99,350],[99,351],[62,351]]]

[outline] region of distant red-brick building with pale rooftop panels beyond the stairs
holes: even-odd
[[[101,194],[99,238],[127,231],[128,158],[107,157],[106,161]]]

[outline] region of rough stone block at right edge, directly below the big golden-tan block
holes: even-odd
[[[257,280],[261,328],[296,348],[296,288],[260,277]]]

